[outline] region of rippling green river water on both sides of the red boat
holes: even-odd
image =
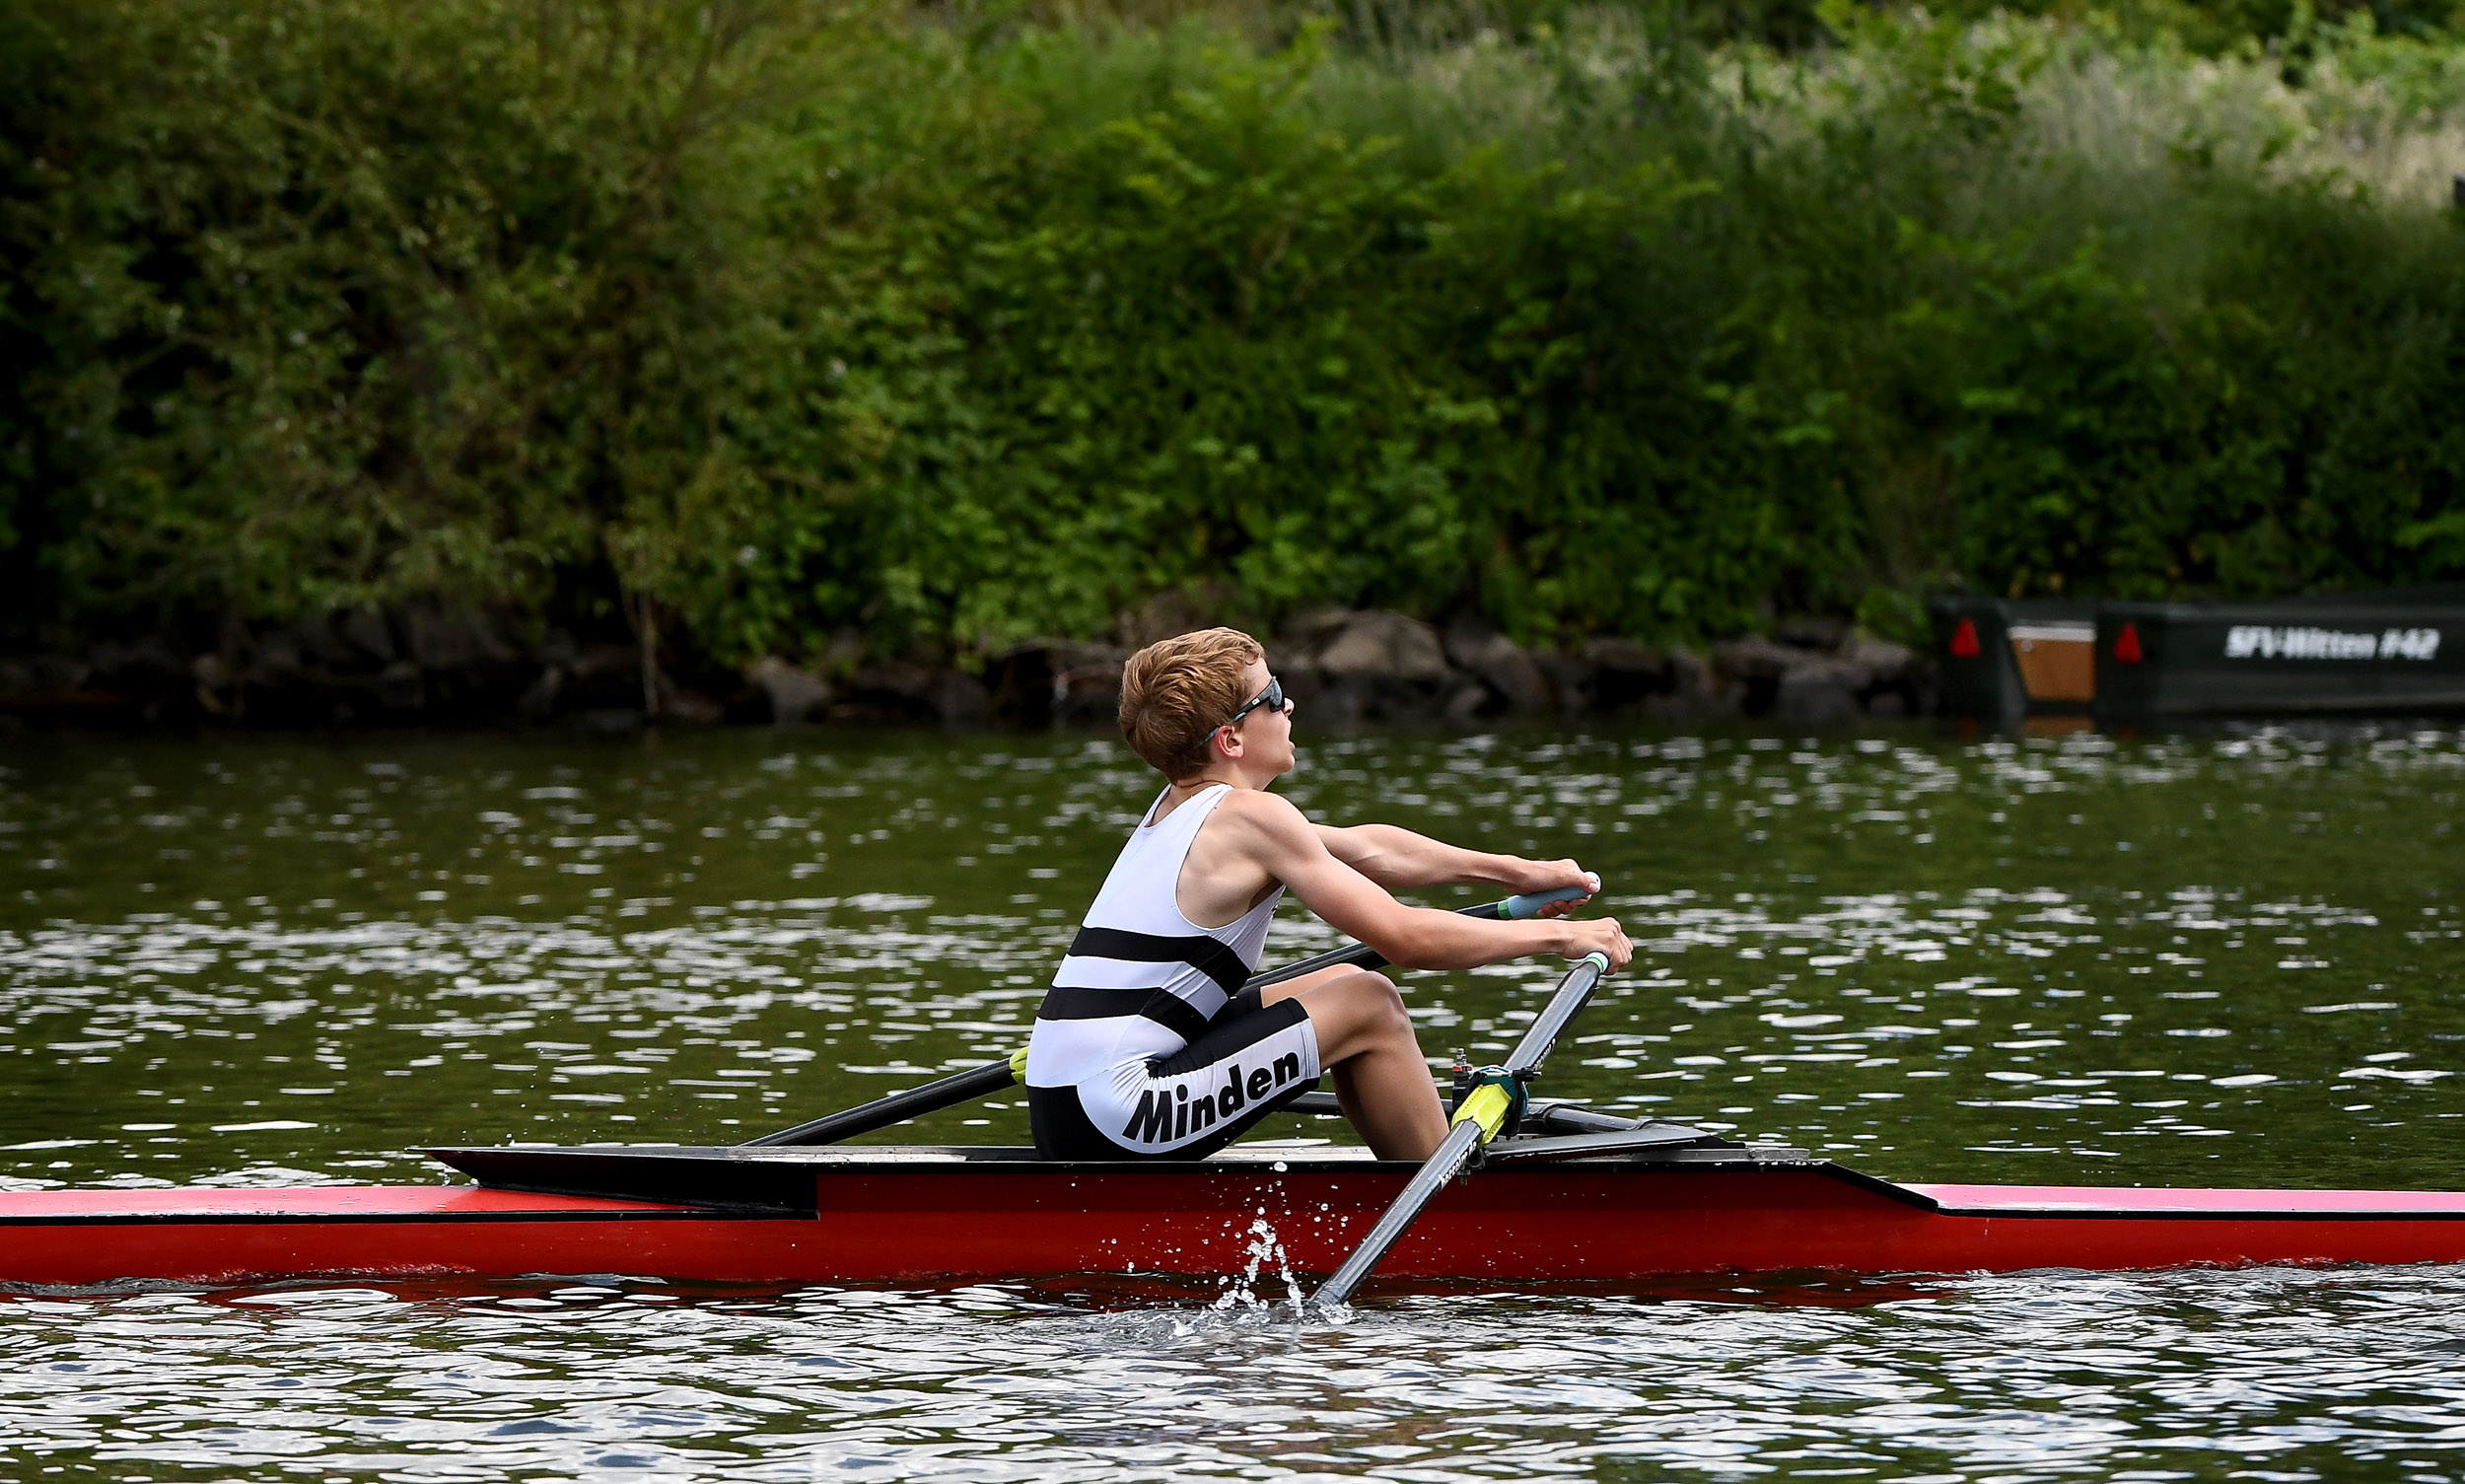
[[[988,1060],[1151,796],[1067,732],[0,767],[7,1191],[737,1141]],[[1548,1095],[1918,1181],[2465,1186],[2455,730],[1353,735],[1287,791],[1607,878],[1639,954]],[[1553,979],[1405,989],[1442,1060]],[[0,1477],[2465,1477],[2458,1267],[1279,1297],[0,1292]]]

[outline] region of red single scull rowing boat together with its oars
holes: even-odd
[[[1531,917],[1546,902],[1464,912]],[[1252,984],[1383,961],[1353,944]],[[1568,974],[1509,1058],[1528,1062],[1516,1080],[1538,1070],[1595,981],[1597,969]],[[1442,1171],[1457,1164],[1430,1178],[1427,1164],[1319,1141],[1136,1164],[836,1144],[1011,1087],[1023,1060],[752,1144],[426,1151],[476,1186],[0,1193],[0,1287],[560,1274],[951,1284],[1213,1277],[1269,1260],[1311,1274],[1375,1267],[1385,1279],[1472,1282],[2465,1262],[2465,1193],[1901,1186],[1804,1149],[1546,1099],[1479,1146],[1449,1141],[1442,1154],[1479,1168],[1454,1183]],[[1287,1107],[1338,1112],[1326,1092]],[[1412,1205],[1420,1196],[1427,1205]],[[1338,1284],[1334,1299],[1346,1292]]]

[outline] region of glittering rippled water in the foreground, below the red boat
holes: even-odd
[[[2465,1440],[2453,1267],[1790,1297],[1420,1297],[1346,1326],[1023,1287],[15,1299],[0,1447],[404,1479],[2223,1479],[2448,1477]]]

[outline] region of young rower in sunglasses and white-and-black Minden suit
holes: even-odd
[[[1028,1122],[1045,1159],[1200,1159],[1334,1072],[1380,1159],[1427,1159],[1447,1109],[1395,984],[1321,969],[1245,991],[1287,890],[1405,969],[1634,949],[1617,922],[1408,907],[1390,890],[1583,890],[1573,860],[1459,850],[1412,831],[1311,823],[1267,791],[1292,772],[1292,703],[1235,629],[1151,643],[1122,671],[1122,735],[1168,781],[1087,910],[1028,1038]],[[1583,897],[1587,900],[1587,897]]]

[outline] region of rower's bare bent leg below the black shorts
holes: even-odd
[[[1395,981],[1368,969],[1326,969],[1277,984],[1267,1003],[1299,998],[1319,1038],[1319,1062],[1336,1080],[1343,1117],[1378,1159],[1430,1159],[1447,1139],[1430,1062],[1412,1038],[1412,1016]]]

